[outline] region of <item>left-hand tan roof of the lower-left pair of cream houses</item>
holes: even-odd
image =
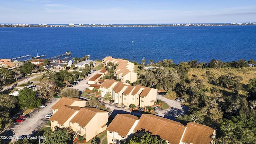
[[[81,107],[78,106],[62,106],[54,115],[52,115],[49,120],[57,121],[58,124],[64,124],[72,114],[80,110]]]

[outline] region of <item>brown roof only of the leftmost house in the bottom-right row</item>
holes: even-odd
[[[136,120],[138,118],[131,114],[117,114],[106,130],[118,132],[120,136],[126,137]]]

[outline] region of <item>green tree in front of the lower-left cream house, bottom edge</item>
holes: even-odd
[[[70,129],[70,130],[68,130]],[[43,144],[67,144],[72,136],[74,131],[71,128],[58,128],[55,127],[54,131],[46,131],[43,136],[46,139],[43,139]]]

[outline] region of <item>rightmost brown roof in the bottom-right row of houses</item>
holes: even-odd
[[[215,133],[213,128],[195,122],[189,122],[186,127],[182,142],[188,144],[210,144]]]

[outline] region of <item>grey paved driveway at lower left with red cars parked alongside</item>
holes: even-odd
[[[34,134],[37,130],[42,128],[48,119],[44,118],[46,114],[52,113],[51,107],[56,104],[60,99],[59,98],[50,98],[46,102],[45,108],[36,108],[33,111],[29,112],[30,118],[27,118],[24,122],[15,122],[1,134],[2,136],[22,136]],[[12,140],[14,142],[15,139]]]

